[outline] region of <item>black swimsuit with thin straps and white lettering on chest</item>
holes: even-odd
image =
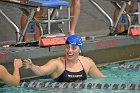
[[[82,63],[81,63],[81,65],[82,65]],[[82,68],[83,68],[83,70],[81,70],[79,72],[70,72],[70,71],[66,70],[66,61],[65,61],[64,72],[59,77],[54,79],[54,81],[56,81],[56,82],[75,82],[75,81],[86,80],[87,75],[86,75],[83,65],[82,65]]]

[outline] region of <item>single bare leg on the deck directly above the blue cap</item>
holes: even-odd
[[[71,19],[71,27],[70,27],[71,35],[75,34],[75,28],[77,25],[79,14],[80,14],[80,0],[72,0],[71,16],[74,16],[74,17]]]

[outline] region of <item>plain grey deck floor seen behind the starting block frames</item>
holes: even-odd
[[[108,1],[96,0],[112,17],[114,12],[114,6]],[[106,6],[107,5],[107,6]],[[22,12],[15,7],[8,7],[0,5],[2,9],[11,20],[13,20],[18,27],[20,27],[20,19]],[[63,11],[62,11],[63,12]],[[15,29],[7,23],[6,20],[0,15],[0,42],[15,40]],[[109,25],[107,19],[89,2],[81,0],[81,13],[79,21],[76,27],[76,33],[82,36],[89,35],[105,35],[109,33]],[[64,29],[64,32],[68,32]],[[6,34],[5,34],[6,33]]]

